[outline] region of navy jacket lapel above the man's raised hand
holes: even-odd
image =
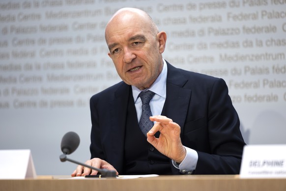
[[[168,62],[167,66],[167,97],[163,109],[164,114],[162,114],[177,123],[181,127],[182,134],[192,91],[190,89],[184,89],[184,85],[188,79],[181,74],[180,70]]]

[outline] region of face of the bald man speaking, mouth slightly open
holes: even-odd
[[[160,33],[151,32],[148,22],[127,15],[109,24],[106,41],[120,78],[141,90],[149,88],[163,67],[165,42],[162,50]]]

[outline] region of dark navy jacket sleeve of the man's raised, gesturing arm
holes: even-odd
[[[216,79],[207,97],[209,101],[203,117],[207,137],[202,135],[201,138],[207,139],[208,145],[197,150],[199,159],[195,174],[239,174],[245,143],[225,81]],[[200,139],[200,134],[198,137]]]

